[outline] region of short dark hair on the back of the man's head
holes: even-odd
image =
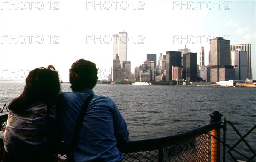
[[[98,69],[93,62],[79,59],[72,64],[69,72],[72,91],[79,91],[84,88],[93,89],[97,83]]]

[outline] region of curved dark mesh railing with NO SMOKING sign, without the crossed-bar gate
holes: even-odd
[[[190,131],[154,139],[141,139],[121,143],[119,150],[124,155],[124,162],[215,162],[219,161],[219,151],[213,149],[211,143],[216,139],[209,138],[213,130],[221,128],[221,116],[218,111],[211,115],[211,123]],[[8,114],[0,114],[0,131],[4,131]],[[1,155],[3,140],[0,141]],[[56,161],[65,161],[63,147],[56,150]],[[216,161],[216,162],[217,162]]]

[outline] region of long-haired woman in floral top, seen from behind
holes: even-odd
[[[30,71],[24,91],[8,106],[2,162],[51,162],[54,159],[47,141],[55,130],[55,102],[59,93],[59,76],[52,65]]]

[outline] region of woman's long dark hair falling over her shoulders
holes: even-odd
[[[58,72],[53,65],[48,68],[36,68],[29,72],[22,94],[13,99],[8,108],[16,113],[22,113],[36,102],[47,105],[55,103],[57,95],[61,92]]]

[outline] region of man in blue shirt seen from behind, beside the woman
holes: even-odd
[[[97,96],[92,89],[97,82],[98,69],[90,61],[79,59],[72,64],[69,79],[73,92],[60,97],[60,115],[64,146],[69,162],[122,162],[117,142],[128,142],[127,123],[109,97]],[[71,141],[85,99],[93,95],[83,117],[74,153]],[[74,158],[72,158],[74,156]]]

